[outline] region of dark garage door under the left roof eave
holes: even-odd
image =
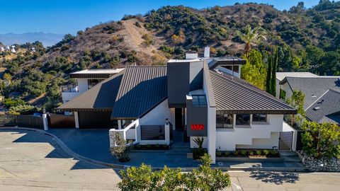
[[[108,129],[118,125],[111,120],[111,112],[78,112],[78,117],[81,129]]]

